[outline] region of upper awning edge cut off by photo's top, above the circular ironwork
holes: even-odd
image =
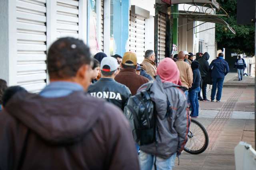
[[[218,10],[220,10],[220,4],[216,0],[162,0],[166,4],[189,4],[189,3],[200,3],[200,4],[212,4]]]

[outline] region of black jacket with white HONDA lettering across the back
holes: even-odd
[[[100,78],[96,83],[89,86],[87,92],[93,97],[104,98],[122,110],[124,110],[124,106],[126,106],[128,98],[131,96],[128,87],[112,78]]]

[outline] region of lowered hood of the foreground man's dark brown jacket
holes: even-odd
[[[83,91],[59,98],[20,92],[5,109],[45,141],[67,144],[80,141],[92,129],[102,112],[99,104],[104,102]]]

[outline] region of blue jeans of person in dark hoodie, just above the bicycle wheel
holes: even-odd
[[[192,107],[190,116],[192,117],[198,116],[198,112],[199,112],[199,103],[197,99],[198,92],[200,92],[200,87],[189,90],[189,100],[190,100],[190,105]]]

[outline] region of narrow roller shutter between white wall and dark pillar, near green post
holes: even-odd
[[[166,14],[158,13],[158,63],[165,58]]]

